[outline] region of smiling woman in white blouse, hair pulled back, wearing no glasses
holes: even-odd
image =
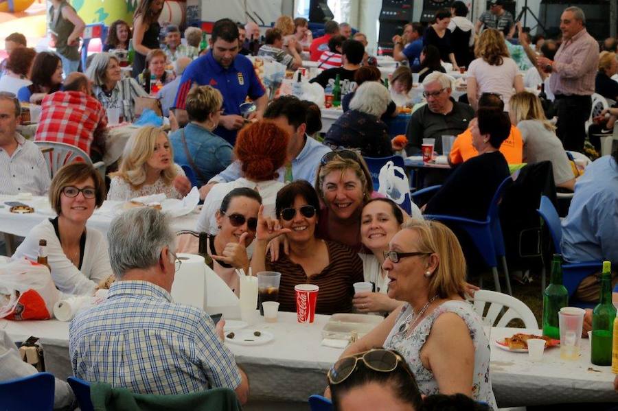
[[[389,298],[388,272],[382,268],[389,250],[389,242],[396,235],[404,216],[397,204],[389,198],[369,200],[361,212],[361,242],[368,253],[358,253],[363,260],[365,281],[374,283],[374,291],[358,293],[354,296],[354,308],[361,313],[389,313],[402,303]]]

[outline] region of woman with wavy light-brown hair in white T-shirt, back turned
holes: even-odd
[[[509,100],[515,93],[524,91],[523,76],[517,63],[510,58],[503,34],[496,29],[487,29],[474,47],[477,56],[468,67],[468,101],[476,110],[483,93],[498,93],[502,96],[504,110],[509,110]]]

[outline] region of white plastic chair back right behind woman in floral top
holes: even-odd
[[[485,305],[490,304],[487,314],[483,316]],[[499,314],[506,312],[496,323]],[[506,327],[510,320],[519,318],[524,322],[524,327],[538,329],[538,322],[527,305],[517,298],[501,292],[479,290],[474,293],[474,310],[483,318],[483,324],[490,327]]]

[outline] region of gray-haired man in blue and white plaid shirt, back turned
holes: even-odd
[[[143,394],[181,394],[209,388],[236,390],[247,401],[247,375],[201,309],[176,304],[170,292],[175,235],[165,215],[133,209],[108,231],[117,281],[106,302],[82,312],[69,326],[73,373]]]

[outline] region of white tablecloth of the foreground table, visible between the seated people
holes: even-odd
[[[262,322],[257,312],[255,318],[257,322],[250,329],[271,331],[275,336],[272,342],[254,347],[227,344],[249,375],[251,399],[306,401],[309,395],[321,393],[326,386],[325,373],[342,352],[320,345],[321,330],[329,316],[317,315],[312,325],[298,324],[295,313],[279,313],[279,322],[273,324]],[[49,370],[60,378],[71,374],[66,322],[0,320],[3,327],[14,340],[41,338]],[[577,361],[560,360],[556,347],[545,351],[542,362],[533,363],[526,353],[510,353],[494,345],[494,340],[517,332],[540,333],[512,328],[492,328],[490,333],[490,371],[499,406],[618,401],[611,368],[590,363],[588,340],[582,340],[582,355]],[[48,351],[53,355],[48,357]]]

